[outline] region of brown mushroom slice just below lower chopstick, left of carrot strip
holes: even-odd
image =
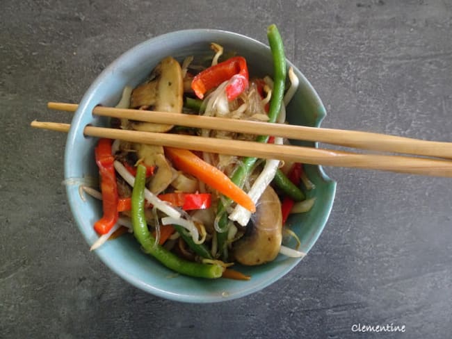
[[[155,195],[166,190],[172,182],[173,176],[172,167],[163,154],[163,147],[152,144],[134,144],[134,149],[136,149],[138,158],[143,159],[145,165],[156,167],[147,188]]]

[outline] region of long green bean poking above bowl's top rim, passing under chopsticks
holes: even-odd
[[[284,88],[286,83],[286,56],[284,55],[284,44],[280,32],[275,24],[268,26],[267,29],[268,43],[270,44],[271,54],[273,58],[273,91],[271,94],[270,107],[268,108],[268,122],[275,122],[280,113],[282,101],[284,99]],[[259,135],[257,142],[267,142],[268,135]],[[250,174],[250,170],[257,161],[257,158],[246,157],[239,167],[232,174],[232,182],[239,187],[243,187],[245,179]],[[228,199],[227,204],[231,201]],[[218,204],[217,215],[220,216],[218,228],[222,231],[217,234],[218,252],[222,253],[227,240],[227,226],[229,221],[225,206],[220,202]]]

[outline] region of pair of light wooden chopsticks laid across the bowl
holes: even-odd
[[[48,107],[54,110],[73,112],[78,106],[76,104],[49,102]],[[157,144],[196,151],[231,154],[235,156],[256,156],[258,158],[290,160],[312,165],[356,167],[407,174],[452,177],[452,160],[450,160],[452,159],[451,142],[434,142],[361,131],[271,124],[268,122],[250,122],[220,117],[204,117],[200,115],[120,109],[103,106],[95,107],[92,113],[95,115],[127,118],[158,124],[177,124],[180,126],[202,129],[233,131],[255,135],[273,135],[294,140],[317,141],[358,149],[387,151],[391,153],[412,154],[435,158],[356,154],[346,151],[333,151],[293,145],[262,144],[258,142],[223,140],[216,138],[209,138],[207,140],[206,138],[192,135],[127,131],[95,126],[85,127],[83,131],[85,135],[99,138],[120,139],[129,142]],[[31,126],[61,132],[67,132],[70,129],[70,124],[55,122],[34,121],[31,123]]]

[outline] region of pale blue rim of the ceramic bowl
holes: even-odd
[[[74,114],[74,117],[72,119],[70,131],[67,135],[67,142],[66,142],[66,147],[65,147],[65,160],[64,160],[65,179],[69,179],[72,176],[71,169],[70,169],[71,151],[72,151],[72,147],[74,146],[74,143],[76,142],[77,133],[83,134],[83,126],[85,126],[85,124],[83,122],[82,117],[83,117],[83,115],[86,114],[87,111],[91,112],[92,108],[94,108],[94,106],[98,104],[98,102],[96,102],[95,105],[92,104],[93,92],[95,92],[96,88],[98,88],[99,85],[102,85],[102,83],[104,82],[104,78],[106,78],[106,76],[108,76],[108,74],[110,74],[111,72],[114,72],[115,69],[118,67],[118,65],[120,65],[122,63],[123,60],[127,59],[129,56],[133,55],[134,53],[136,53],[143,47],[147,46],[148,44],[158,44],[161,41],[167,40],[168,38],[172,38],[174,36],[181,35],[181,34],[198,35],[198,34],[206,34],[206,33],[213,34],[213,35],[227,35],[228,37],[234,37],[234,38],[238,38],[240,40],[248,40],[249,42],[252,42],[253,44],[259,44],[261,47],[264,47],[264,48],[270,50],[270,47],[268,47],[268,45],[264,44],[263,42],[250,38],[246,35],[241,35],[240,33],[235,33],[232,31],[225,31],[225,30],[220,30],[220,29],[213,29],[213,28],[195,28],[195,29],[172,31],[169,33],[164,33],[162,35],[157,35],[153,38],[144,40],[143,42],[136,44],[134,47],[131,47],[127,51],[124,51],[124,53],[121,53],[120,56],[115,58],[115,60],[113,60],[113,62],[110,63],[95,78],[95,81],[92,82],[92,84],[90,85],[88,90],[86,90],[86,92],[83,94],[79,107],[77,108],[76,113]],[[325,107],[323,106],[323,103],[322,103],[320,97],[318,96],[318,93],[316,92],[314,87],[311,85],[311,83],[309,83],[307,78],[305,78],[304,74],[302,74],[298,70],[298,68],[290,62],[290,60],[286,59],[286,62],[287,62],[288,67],[289,66],[293,67],[297,76],[300,78],[300,84],[303,83],[305,86],[307,86],[307,88],[309,88],[309,92],[312,93],[314,99],[316,100],[316,104],[318,105],[318,108],[319,108],[319,113],[316,116],[315,126],[317,126],[317,127],[320,126],[321,122],[323,121],[323,119],[326,116],[326,110],[325,110]],[[315,142],[314,145],[315,145],[315,147],[318,147],[317,142]],[[309,251],[312,248],[312,246],[314,246],[315,242],[318,240],[318,237],[323,232],[325,224],[328,222],[328,219],[330,217],[330,213],[332,210],[332,205],[334,203],[334,197],[335,197],[336,185],[337,185],[336,181],[330,179],[330,177],[325,173],[322,166],[318,165],[316,167],[318,168],[318,174],[321,177],[322,181],[325,181],[325,183],[328,183],[328,185],[330,185],[329,189],[330,189],[331,199],[330,199],[330,204],[328,204],[328,206],[325,206],[325,209],[323,212],[323,218],[321,220],[321,225],[318,226],[318,231],[317,231],[316,235],[309,240],[309,246],[308,246],[307,251]],[[74,220],[76,221],[77,227],[79,228],[79,230],[81,231],[84,238],[86,239],[86,241],[89,244],[91,242],[91,239],[88,237],[88,235],[84,231],[83,227],[81,226],[81,221],[79,220],[79,214],[77,213],[76,201],[74,201],[75,197],[79,195],[78,190],[74,190],[74,187],[67,185],[66,186],[66,195],[67,195],[67,199],[69,201],[72,215],[74,217]],[[266,288],[267,286],[270,286],[275,281],[281,279],[282,276],[288,274],[293,269],[293,267],[298,265],[298,263],[301,261],[301,258],[293,259],[292,261],[290,261],[290,263],[288,263],[287,265],[284,266],[284,270],[281,270],[280,272],[278,272],[278,274],[275,274],[275,276],[273,276],[273,279],[268,279],[267,281],[264,281],[264,282],[258,284],[257,286],[255,286],[254,288],[251,288],[250,290],[245,289],[245,290],[243,290],[243,292],[238,292],[238,293],[235,293],[234,295],[229,295],[226,297],[223,297],[223,296],[218,297],[217,295],[215,295],[215,296],[207,296],[205,298],[204,297],[199,298],[197,296],[193,297],[189,294],[181,295],[181,294],[175,294],[172,292],[168,292],[166,290],[161,290],[158,288],[153,288],[149,284],[144,283],[143,281],[140,281],[140,279],[135,279],[134,276],[131,276],[125,270],[120,269],[120,267],[118,267],[117,265],[113,265],[113,263],[111,261],[108,261],[108,258],[106,258],[106,256],[103,255],[102,251],[95,251],[95,252],[96,252],[97,256],[99,256],[101,261],[107,267],[109,267],[113,272],[115,272],[115,274],[118,274],[118,276],[122,277],[122,279],[131,283],[133,286],[136,286],[137,288],[140,288],[141,290],[145,290],[145,292],[150,292],[152,295],[156,295],[158,297],[170,299],[173,301],[183,301],[183,302],[191,302],[191,303],[211,303],[211,302],[218,302],[218,301],[228,301],[228,300],[244,297],[246,295],[250,295],[253,292],[262,290],[262,289]]]

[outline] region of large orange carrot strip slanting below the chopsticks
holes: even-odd
[[[220,171],[220,169],[206,163],[188,149],[165,147],[165,154],[173,165],[188,174],[195,176],[211,188],[218,190],[229,199],[255,213],[256,206],[252,199],[239,186]]]

